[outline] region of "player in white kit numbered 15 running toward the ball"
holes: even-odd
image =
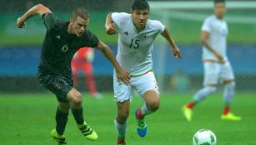
[[[114,99],[118,107],[118,116],[114,120],[118,133],[118,143],[125,144],[125,133],[129,114],[132,89],[136,90],[144,101],[141,108],[135,110],[140,137],[147,133],[144,117],[152,114],[159,107],[158,85],[153,74],[152,50],[153,41],[161,34],[172,48],[173,55],[181,58],[178,47],[170,36],[168,28],[161,22],[150,20],[149,5],[146,0],[135,0],[131,7],[131,14],[125,12],[109,13],[106,20],[106,31],[113,35],[118,30],[119,64],[130,74],[130,82],[119,82],[116,72],[113,74]]]

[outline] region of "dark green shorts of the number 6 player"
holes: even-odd
[[[73,89],[73,80],[68,80],[58,75],[46,75],[38,73],[39,84],[53,92],[59,102],[68,102],[67,94]]]

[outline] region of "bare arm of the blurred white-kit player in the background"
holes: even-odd
[[[202,31],[202,32],[201,32],[201,37],[200,37],[200,42],[201,42],[201,44],[202,44],[203,46],[205,46],[206,49],[208,49],[208,51],[213,52],[214,56],[216,56],[216,57],[218,58],[218,60],[223,61],[223,56],[221,56],[217,51],[215,51],[215,50],[213,49],[212,46],[210,46],[210,45],[208,44],[208,41],[207,41],[207,40],[208,40],[208,36],[209,36],[208,31]]]

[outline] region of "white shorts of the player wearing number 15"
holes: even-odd
[[[158,85],[153,71],[145,75],[131,77],[131,84],[125,85],[123,82],[118,82],[116,73],[113,73],[113,91],[115,102],[123,102],[125,100],[133,99],[133,89],[142,97],[148,90],[158,92]],[[159,93],[159,92],[158,92]]]

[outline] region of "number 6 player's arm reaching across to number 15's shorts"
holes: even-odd
[[[130,75],[127,70],[124,70],[118,63],[118,60],[113,56],[113,52],[102,41],[98,41],[98,49],[102,51],[103,55],[110,60],[115,70],[117,71],[118,80],[123,81],[126,85],[130,84]]]

